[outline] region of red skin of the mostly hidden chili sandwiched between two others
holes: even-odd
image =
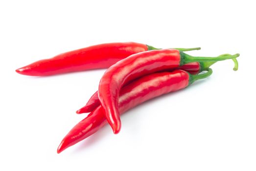
[[[182,66],[179,66],[176,69],[182,69],[185,70],[187,72],[189,72],[190,74],[198,74],[201,70],[200,67],[200,63],[198,62],[193,62],[193,63],[188,63],[188,64],[184,64]],[[89,101],[87,102],[87,104],[80,108],[79,110],[76,111],[77,114],[81,114],[81,113],[88,113],[93,111],[96,107],[98,107],[100,105],[100,101],[98,98],[98,91],[96,91],[93,96],[89,99]]]

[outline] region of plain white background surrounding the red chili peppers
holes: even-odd
[[[256,170],[256,10],[253,0],[0,1],[0,170]],[[110,42],[202,47],[194,56],[240,53],[209,79],[144,103],[60,154],[86,115],[102,70],[50,77],[15,69]]]

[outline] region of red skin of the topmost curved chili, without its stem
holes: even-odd
[[[177,68],[180,61],[179,50],[150,50],[131,55],[106,70],[99,83],[98,97],[114,133],[118,133],[121,128],[118,97],[122,86],[147,74]]]

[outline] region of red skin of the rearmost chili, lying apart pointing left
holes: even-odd
[[[59,54],[16,70],[19,74],[48,76],[89,69],[108,68],[132,54],[147,51],[141,43],[104,43]]]

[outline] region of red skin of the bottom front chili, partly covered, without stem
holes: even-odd
[[[119,111],[124,113],[147,100],[183,89],[188,84],[189,74],[183,70],[159,72],[141,77],[121,89]],[[103,127],[107,123],[104,113],[105,111],[100,105],[96,107],[93,112],[70,130],[59,145],[57,152],[60,153]]]

